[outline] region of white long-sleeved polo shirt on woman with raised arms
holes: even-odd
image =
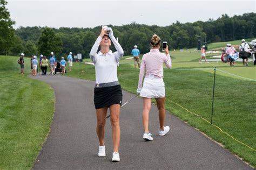
[[[102,41],[102,37],[98,37],[95,41],[95,44],[92,46],[90,52],[90,58],[95,65],[95,75],[96,83],[109,83],[118,81],[117,79],[117,63],[124,55],[123,48],[120,46],[116,38],[111,39],[114,47],[117,49],[116,52],[109,51],[106,54],[103,54],[97,50]]]

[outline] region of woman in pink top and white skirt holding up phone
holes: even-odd
[[[156,98],[157,108],[159,111],[160,131],[159,135],[164,136],[169,132],[170,127],[164,126],[165,121],[165,84],[164,84],[164,68],[165,63],[167,68],[172,67],[172,61],[169,54],[168,46],[166,46],[165,54],[160,53],[161,39],[156,34],[151,38],[151,49],[142,57],[140,65],[139,82],[137,93],[143,97],[143,139],[146,141],[153,140],[152,134],[149,132],[149,112],[151,109],[151,98]],[[144,82],[143,82],[143,77]],[[142,83],[143,82],[143,83]]]

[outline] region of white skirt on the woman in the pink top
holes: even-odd
[[[165,97],[165,87],[163,78],[155,78],[154,75],[145,77],[140,97],[161,98]]]

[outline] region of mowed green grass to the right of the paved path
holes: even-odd
[[[217,70],[213,112],[214,125],[254,150],[238,143],[203,119],[185,110],[188,109],[207,121],[211,121],[213,68],[216,66],[226,72],[256,80],[255,67],[252,63],[249,67],[242,66],[240,62],[237,62],[235,67],[230,67],[223,62],[199,64],[200,53],[192,50],[171,52],[171,56],[173,69],[164,69],[166,109],[225,145],[225,148],[233,154],[239,155],[255,167],[256,95],[253,90],[256,87],[255,81],[234,77]],[[128,57],[130,56],[124,56],[124,59]],[[139,69],[133,67],[132,59],[124,59],[120,61],[118,67],[118,80],[123,89],[135,94]],[[86,59],[87,61],[90,60]],[[79,77],[79,70],[81,70],[81,79],[95,80],[94,66],[80,63],[80,68],[79,63],[74,63],[72,72],[66,75]]]

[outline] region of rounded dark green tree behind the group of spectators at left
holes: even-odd
[[[38,52],[45,56],[49,56],[51,52],[59,55],[62,53],[62,48],[63,43],[60,36],[53,29],[44,27],[38,40]]]

